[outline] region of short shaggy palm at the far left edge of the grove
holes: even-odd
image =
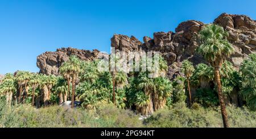
[[[12,74],[6,74],[0,85],[0,94],[6,95],[6,104],[10,107],[13,98],[13,92],[16,91],[15,80]]]

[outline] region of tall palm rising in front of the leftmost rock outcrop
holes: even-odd
[[[63,77],[66,78],[68,82],[70,81],[70,79],[72,81],[72,108],[74,107],[75,102],[76,83],[81,71],[80,64],[81,61],[79,60],[79,58],[72,55],[60,69],[60,73],[63,74]]]

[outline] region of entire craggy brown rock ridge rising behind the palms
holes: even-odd
[[[229,32],[228,40],[233,44],[235,53],[229,58],[236,69],[241,65],[248,54],[256,52],[256,21],[246,15],[221,14],[214,20]],[[174,78],[180,74],[179,67],[184,59],[193,64],[205,62],[203,57],[195,53],[200,45],[198,33],[204,23],[196,20],[182,22],[175,32],[155,32],[153,38],[143,37],[143,43],[136,37],[126,35],[114,35],[111,46],[123,51],[131,50],[155,50],[161,52],[169,65],[168,77]],[[44,74],[58,74],[60,65],[68,60],[71,54],[75,54],[82,60],[93,60],[98,57],[98,50],[78,50],[74,48],[61,48],[56,52],[46,52],[38,56],[37,65]]]

